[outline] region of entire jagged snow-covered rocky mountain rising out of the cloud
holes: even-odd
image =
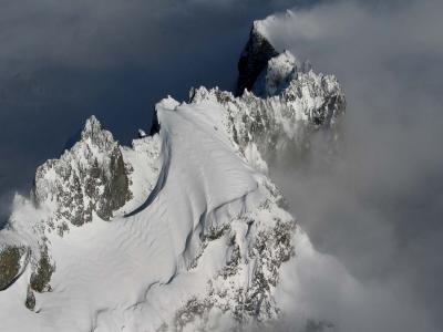
[[[7,331],[226,331],[279,318],[280,269],[306,236],[268,163],[333,131],[346,102],[334,76],[278,53],[260,27],[236,95],[167,97],[131,147],[92,116],[38,168],[0,231]]]

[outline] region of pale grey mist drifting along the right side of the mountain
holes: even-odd
[[[319,271],[317,283],[306,279],[308,302],[338,331],[443,324],[443,4],[391,4],[326,3],[272,30],[278,48],[290,41],[346,91],[337,155],[327,155],[319,133],[310,157],[271,169],[315,248],[359,283],[343,298],[337,289],[347,278],[333,269]]]

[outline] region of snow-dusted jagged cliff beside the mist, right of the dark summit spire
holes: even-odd
[[[269,60],[254,85],[257,95],[245,91],[236,97],[219,89],[199,87],[190,91],[190,102],[212,101],[226,108],[233,141],[250,163],[256,163],[255,151],[268,162],[285,153],[302,154],[309,151],[312,133],[332,133],[346,108],[337,79],[307,68],[285,52]]]

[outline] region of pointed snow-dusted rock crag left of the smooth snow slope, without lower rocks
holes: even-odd
[[[130,170],[112,134],[92,116],[80,142],[37,169],[32,196],[52,210],[50,225],[63,232],[69,224],[90,222],[94,212],[110,220],[132,197]]]

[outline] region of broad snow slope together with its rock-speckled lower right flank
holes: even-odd
[[[158,170],[141,168],[142,148],[122,148],[132,183],[157,175],[157,186],[133,190],[124,207],[152,197],[143,208],[111,221],[93,214],[61,237],[39,221],[39,231],[23,232],[23,219],[42,208],[18,198],[11,229],[29,248],[30,237],[45,238],[55,269],[51,287],[32,293],[33,312],[24,305],[30,269],[0,293],[8,331],[182,330],[208,317],[235,324],[277,317],[272,292],[280,264],[292,256],[296,227],[279,207],[281,195],[233,145],[217,103],[168,98],[156,112],[159,134],[141,139],[157,141],[152,152],[162,146]],[[40,214],[47,222],[53,211]]]

